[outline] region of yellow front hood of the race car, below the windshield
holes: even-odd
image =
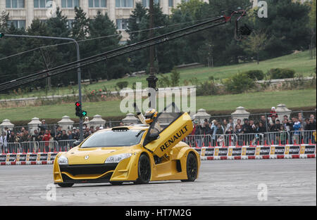
[[[63,154],[68,158],[68,164],[104,164],[112,155],[133,153],[132,147],[107,147],[107,148],[73,148]]]

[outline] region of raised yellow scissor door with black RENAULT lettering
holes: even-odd
[[[175,106],[173,103],[172,105]],[[168,107],[166,107],[168,108]],[[166,111],[166,108],[164,111]],[[156,132],[155,129],[156,123],[159,123],[159,117],[162,115],[162,112],[159,113],[156,120],[149,127],[149,132],[147,133],[146,140],[149,138],[151,131]],[[166,153],[168,153],[173,146],[182,141],[187,135],[192,132],[192,118],[188,115],[187,112],[182,113],[178,112],[178,114],[173,113],[175,118],[168,124],[168,126],[159,131],[159,138],[154,141],[145,141],[144,148],[150,150],[154,155],[158,157],[162,157]]]

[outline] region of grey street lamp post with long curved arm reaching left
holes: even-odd
[[[24,38],[37,38],[37,39],[58,39],[64,41],[73,41],[76,45],[77,51],[77,61],[80,60],[80,50],[78,42],[75,39],[68,38],[68,37],[48,37],[48,36],[31,36],[31,35],[16,35],[16,34],[4,34],[1,37],[24,37]],[[82,77],[81,77],[81,70],[80,70],[80,63],[77,64],[77,78],[78,78],[78,98],[80,103],[82,103]],[[80,117],[80,141],[82,141],[82,118]]]

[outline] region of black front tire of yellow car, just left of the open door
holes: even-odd
[[[151,179],[151,162],[147,155],[141,155],[137,164],[137,181],[136,184],[147,184]]]

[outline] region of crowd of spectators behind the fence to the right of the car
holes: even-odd
[[[302,138],[310,138],[311,140],[305,140],[306,142],[315,142],[315,136],[313,132],[316,130],[315,115],[310,115],[309,118],[304,118],[302,113],[299,112],[297,117],[289,118],[287,115],[283,116],[282,122],[278,119],[278,114],[275,112],[275,108],[271,109],[270,115],[261,115],[259,121],[254,119],[237,119],[237,122],[233,122],[233,119],[223,119],[219,122],[216,119],[208,120],[204,119],[203,123],[199,120],[194,120],[194,129],[192,131],[192,137],[190,142],[194,145],[220,145],[220,142],[225,141],[225,145],[232,144],[249,144],[250,141],[256,143],[257,141],[268,140],[278,141],[278,143],[285,144],[287,141],[301,143]],[[310,136],[303,136],[301,131],[307,131]],[[261,134],[261,135],[260,135]],[[289,135],[291,140],[288,140]],[[208,136],[209,138],[202,138]],[[232,143],[233,142],[233,143]]]

